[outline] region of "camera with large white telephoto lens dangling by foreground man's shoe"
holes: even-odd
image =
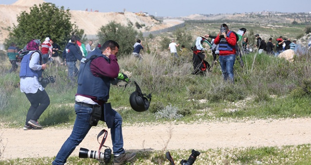
[[[104,163],[108,164],[111,159],[111,149],[105,149],[103,153],[95,150],[87,150],[85,148],[80,148],[79,158],[92,158],[99,161],[104,161]]]

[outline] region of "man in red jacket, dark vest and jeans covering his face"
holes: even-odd
[[[222,24],[214,44],[219,44],[219,62],[222,66],[224,80],[226,81],[229,78],[231,82],[234,82],[233,65],[236,54],[236,35],[229,30],[226,24]]]

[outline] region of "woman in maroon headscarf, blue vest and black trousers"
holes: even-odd
[[[39,117],[50,105],[50,98],[47,92],[38,81],[42,77],[46,64],[42,63],[41,52],[39,51],[39,40],[32,40],[27,44],[26,54],[20,62],[20,91],[25,93],[30,102],[26,116],[24,130],[42,128],[38,123]]]

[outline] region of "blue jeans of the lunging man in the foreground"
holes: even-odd
[[[69,155],[82,142],[82,140],[85,138],[86,134],[92,127],[89,124],[92,108],[74,105],[74,109],[77,117],[74,122],[71,135],[68,137],[61,149],[58,151],[55,160],[52,162],[52,165],[64,165],[67,162],[67,158],[69,157]],[[119,113],[116,113],[114,126],[110,129],[110,134],[113,145],[113,153],[115,155],[124,153],[125,151],[123,149],[122,118]]]

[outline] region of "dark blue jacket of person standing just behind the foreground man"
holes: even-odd
[[[63,58],[66,59],[67,62],[73,62],[81,60],[82,55],[74,43],[68,43],[66,45],[65,51],[63,52]]]

